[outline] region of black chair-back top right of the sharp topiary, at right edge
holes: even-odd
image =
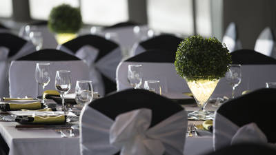
[[[276,64],[276,59],[266,56],[255,50],[236,50],[230,53],[233,64],[241,65],[270,65]]]

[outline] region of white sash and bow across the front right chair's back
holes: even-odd
[[[255,123],[239,127],[217,112],[213,132],[215,150],[238,143],[268,143],[266,135]]]

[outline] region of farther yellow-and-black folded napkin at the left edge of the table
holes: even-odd
[[[33,103],[4,103],[0,104],[1,111],[15,111],[15,110],[40,110],[43,105],[40,102]]]

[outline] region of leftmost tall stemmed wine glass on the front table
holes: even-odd
[[[45,103],[44,102],[44,89],[45,86],[48,85],[48,83],[50,82],[50,63],[37,63],[37,66],[35,68],[35,81],[37,81],[37,83],[39,83],[39,85],[42,86],[42,101],[41,103]]]

